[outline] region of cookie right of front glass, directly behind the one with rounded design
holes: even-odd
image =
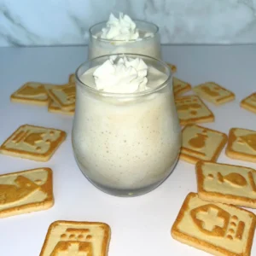
[[[208,123],[214,121],[212,111],[199,96],[183,96],[175,99],[180,125]]]

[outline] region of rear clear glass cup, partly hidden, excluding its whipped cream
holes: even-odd
[[[107,21],[103,21],[90,27],[88,59],[119,53],[148,55],[161,59],[159,27],[143,20],[134,20],[134,22],[140,32],[151,32],[153,37],[129,41],[96,38],[96,35],[102,32],[102,28],[106,26]]]

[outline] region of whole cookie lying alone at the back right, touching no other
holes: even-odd
[[[199,84],[193,88],[193,90],[208,102],[212,102],[215,105],[224,104],[235,100],[235,94],[213,82],[207,82],[205,84]]]

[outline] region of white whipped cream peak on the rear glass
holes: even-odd
[[[119,19],[113,14],[109,15],[106,27],[102,28],[101,38],[113,40],[136,40],[139,32],[136,24],[128,15],[119,13]]]

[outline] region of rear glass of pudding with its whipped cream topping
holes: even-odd
[[[131,53],[161,58],[159,27],[128,15],[112,14],[108,21],[90,27],[88,58],[101,55]]]

